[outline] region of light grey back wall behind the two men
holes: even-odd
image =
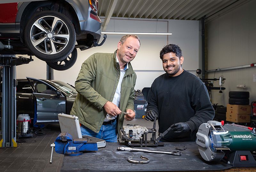
[[[133,69],[137,74],[136,90],[150,87],[154,79],[164,73],[159,52],[167,44],[172,43],[180,46],[185,58],[182,65],[184,69],[193,73],[198,68],[199,21],[114,18],[110,20],[106,32],[113,31],[172,33],[170,36],[138,35],[140,37],[141,47],[137,56],[132,61]],[[54,70],[54,79],[74,85],[84,60],[96,52],[113,53],[117,49],[117,43],[122,36],[108,34],[107,41],[101,47],[94,47],[84,51],[78,50],[76,64],[66,71]],[[17,78],[29,76],[46,79],[46,63],[36,57],[33,58],[34,62],[17,66]],[[148,72],[144,70],[148,70]]]

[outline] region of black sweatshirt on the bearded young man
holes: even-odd
[[[157,77],[148,93],[147,110],[159,114],[159,131],[163,133],[173,123],[187,122],[191,131],[169,131],[161,141],[195,141],[196,132],[202,123],[212,120],[214,109],[204,83],[188,71],[176,77],[167,73]]]

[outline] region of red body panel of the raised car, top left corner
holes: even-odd
[[[15,23],[18,13],[18,3],[0,5],[0,23]]]

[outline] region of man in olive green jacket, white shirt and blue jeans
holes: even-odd
[[[118,129],[135,117],[136,74],[131,61],[140,48],[136,35],[125,35],[111,53],[95,53],[82,64],[75,82],[78,92],[70,114],[76,115],[82,135],[117,142]]]

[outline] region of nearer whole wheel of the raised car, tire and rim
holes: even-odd
[[[24,39],[28,49],[40,60],[58,62],[74,49],[76,32],[71,21],[57,11],[42,11],[29,19]]]

